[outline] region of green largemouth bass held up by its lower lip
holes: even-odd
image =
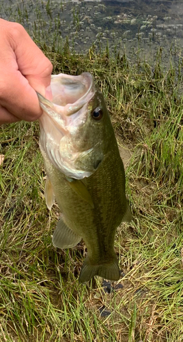
[[[48,209],[57,201],[61,217],[53,246],[73,248],[81,239],[87,257],[79,282],[94,276],[119,280],[114,241],[132,214],[125,193],[124,164],[102,92],[90,73],[52,75],[52,101],[38,93],[40,151],[46,169]]]

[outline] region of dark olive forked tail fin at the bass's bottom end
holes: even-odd
[[[89,258],[86,257],[81,268],[79,282],[87,282],[94,276],[100,276],[108,280],[119,280],[120,272],[116,257],[113,257],[111,263],[103,263],[102,265],[92,265]]]

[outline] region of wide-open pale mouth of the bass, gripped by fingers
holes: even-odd
[[[61,131],[70,125],[70,120],[81,117],[81,111],[82,114],[87,111],[87,105],[96,93],[94,77],[90,73],[79,76],[52,75],[48,88],[51,89],[53,99],[49,101],[37,92],[40,107]]]

